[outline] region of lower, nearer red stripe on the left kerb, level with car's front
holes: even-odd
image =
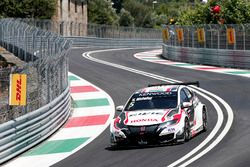
[[[109,115],[86,116],[70,118],[64,128],[79,126],[102,125],[108,120]]]

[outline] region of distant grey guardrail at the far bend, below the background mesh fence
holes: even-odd
[[[120,38],[96,38],[96,37],[66,37],[73,41],[74,47],[98,46],[98,47],[160,47],[162,39],[120,39]]]

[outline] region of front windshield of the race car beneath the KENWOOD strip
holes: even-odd
[[[176,92],[136,93],[127,103],[126,111],[169,109],[177,107]]]

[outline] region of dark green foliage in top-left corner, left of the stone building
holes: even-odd
[[[0,16],[50,19],[56,4],[57,0],[1,0]]]

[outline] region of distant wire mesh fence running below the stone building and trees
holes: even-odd
[[[87,36],[98,38],[161,39],[161,30],[152,28],[120,27],[111,25],[56,22],[51,20],[23,19],[27,24],[58,33],[62,36]]]

